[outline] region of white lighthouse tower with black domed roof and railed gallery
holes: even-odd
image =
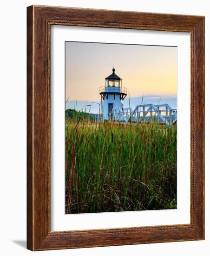
[[[127,95],[127,88],[122,87],[122,79],[115,74],[115,69],[112,69],[112,74],[105,78],[105,86],[100,87],[100,114],[102,121],[120,120],[119,115],[123,109],[122,101]]]

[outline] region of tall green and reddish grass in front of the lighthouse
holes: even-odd
[[[66,213],[177,207],[177,127],[66,120]]]

